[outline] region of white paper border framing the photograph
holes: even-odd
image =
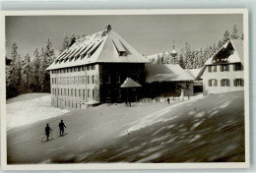
[[[6,135],[6,80],[5,80],[5,17],[6,16],[101,16],[101,15],[196,15],[242,14],[244,32],[244,111],[245,111],[245,162],[198,163],[72,163],[72,164],[7,164]],[[1,114],[1,165],[3,170],[108,170],[108,169],[206,169],[248,168],[249,142],[249,41],[247,9],[144,9],[144,10],[36,10],[0,11],[0,114]]]

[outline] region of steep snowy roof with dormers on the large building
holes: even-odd
[[[92,63],[149,63],[149,60],[111,29],[78,39],[64,50],[47,70]]]

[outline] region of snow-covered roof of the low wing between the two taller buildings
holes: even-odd
[[[146,82],[175,82],[175,81],[193,81],[194,78],[189,75],[177,64],[146,64]]]

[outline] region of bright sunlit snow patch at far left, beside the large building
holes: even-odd
[[[29,125],[70,112],[51,107],[50,94],[27,93],[7,100],[7,129]]]

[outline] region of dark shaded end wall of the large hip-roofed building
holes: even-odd
[[[105,63],[99,64],[99,99],[100,102],[123,102],[126,90],[121,88],[127,77],[140,85],[145,83],[145,64],[141,63]],[[141,88],[132,89],[133,98],[137,99]]]

